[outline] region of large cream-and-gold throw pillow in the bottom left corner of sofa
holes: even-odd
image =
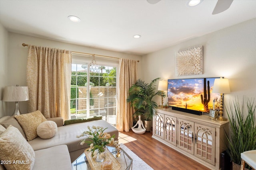
[[[6,162],[7,170],[32,170],[34,166],[34,150],[12,125],[0,135],[0,160]]]

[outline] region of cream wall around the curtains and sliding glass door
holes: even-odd
[[[2,36],[1,36],[2,39]],[[8,73],[4,72],[4,74],[8,74],[8,86],[15,86],[19,84],[19,86],[26,86],[26,62],[28,56],[28,47],[23,47],[22,43],[37,45],[43,47],[52,47],[59,49],[66,49],[70,51],[77,51],[82,53],[91,53],[96,55],[105,55],[117,58],[124,59],[133,59],[140,60],[138,63],[138,76],[141,77],[142,74],[142,56],[131,55],[126,53],[118,53],[114,51],[107,51],[102,49],[95,49],[91,47],[84,47],[80,45],[74,45],[69,43],[63,43],[60,41],[53,41],[49,39],[32,37],[28,35],[22,35],[18,33],[9,32],[8,37],[8,57],[4,59],[8,59]],[[2,57],[1,57],[2,59]],[[0,76],[2,77],[2,76]],[[1,86],[2,87],[2,86]],[[14,110],[14,102],[8,102],[13,104],[8,104],[8,115],[12,115]],[[9,106],[10,105],[10,106]],[[20,102],[20,111],[22,113],[27,113],[27,102]],[[6,114],[6,113],[4,113]],[[2,117],[2,113],[0,113],[0,117]]]

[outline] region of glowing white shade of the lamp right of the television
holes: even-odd
[[[230,94],[229,82],[227,78],[216,78],[213,84],[213,93]]]

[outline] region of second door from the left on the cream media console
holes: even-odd
[[[164,115],[165,133],[164,140],[177,146],[177,117]]]

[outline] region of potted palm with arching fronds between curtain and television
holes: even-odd
[[[152,99],[154,96],[166,97],[163,91],[156,91],[156,82],[160,78],[156,78],[150,84],[138,79],[129,89],[129,96],[126,99],[134,107],[134,115],[144,115],[146,131],[151,131],[151,121],[157,107],[156,102]]]

